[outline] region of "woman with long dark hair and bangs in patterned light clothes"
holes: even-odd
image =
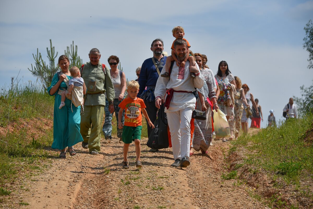
[[[226,118],[228,120],[228,125],[230,128],[230,140],[233,139],[233,131],[235,129],[235,118],[234,118],[234,106],[233,104],[228,105],[228,97],[229,97],[229,91],[230,84],[234,85],[234,88],[236,88],[235,78],[231,74],[230,70],[228,69],[228,64],[226,61],[221,61],[218,64],[218,71],[217,74],[214,76],[217,80],[218,87],[220,89],[220,94],[217,100],[218,107],[222,112],[226,115]],[[223,138],[223,142],[226,142],[227,140]]]

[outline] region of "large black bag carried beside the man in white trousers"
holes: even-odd
[[[156,121],[154,122],[154,129],[149,136],[147,146],[152,149],[165,149],[168,148],[168,135],[167,135],[167,117],[164,112],[164,104],[161,105],[157,114]]]

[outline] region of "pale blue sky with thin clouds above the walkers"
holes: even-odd
[[[169,54],[172,28],[179,25],[194,53],[206,54],[215,74],[225,60],[234,76],[259,99],[265,127],[269,110],[283,120],[282,110],[300,86],[312,85],[309,53],[303,48],[304,27],[313,19],[313,1],[37,1],[0,2],[0,87],[11,77],[20,83],[36,78],[28,68],[38,51],[48,62],[49,39],[58,57],[67,46],[78,46],[83,62],[98,48],[107,64],[119,57],[126,78],[152,57],[151,42],[162,38]],[[56,59],[58,59],[58,57]]]

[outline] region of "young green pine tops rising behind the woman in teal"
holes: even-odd
[[[51,39],[50,49],[47,47],[47,54],[49,65],[46,64],[37,48],[37,55],[33,54],[35,64],[34,66],[31,64],[32,69],[28,68],[28,70],[41,81],[44,90],[47,90],[48,86],[51,84],[54,74],[59,70],[59,64],[55,63],[58,61],[58,59],[56,59],[58,52],[55,54],[55,49],[54,46],[52,46]],[[74,48],[74,41],[73,45],[71,44],[70,47],[67,47],[66,50],[64,50],[64,54],[69,58],[69,67],[80,67],[82,65],[83,61],[80,59],[80,56],[77,55],[77,45]]]

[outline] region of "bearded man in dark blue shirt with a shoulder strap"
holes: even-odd
[[[146,59],[141,66],[141,71],[139,75],[139,98],[143,99],[146,105],[147,114],[154,123],[156,120],[157,108],[155,106],[154,100],[154,89],[156,87],[156,81],[163,69],[166,62],[166,56],[162,55],[163,52],[163,41],[161,38],[157,38],[151,43],[151,51],[153,52],[153,57]],[[152,131],[151,127],[147,122],[148,137]],[[158,150],[151,149],[151,152],[156,152]]]

